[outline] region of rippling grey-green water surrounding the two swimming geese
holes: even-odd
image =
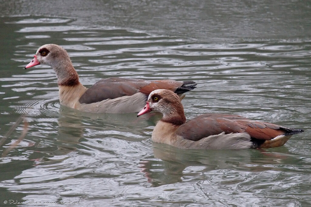
[[[0,1],[0,12],[0,154],[28,122],[0,160],[0,206],[311,205],[310,1]],[[193,80],[188,119],[234,113],[305,132],[266,150],[152,143],[158,114],[60,106],[53,70],[24,70],[46,43],[69,52],[85,86]]]

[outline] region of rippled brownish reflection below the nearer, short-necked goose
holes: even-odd
[[[234,182],[225,172],[262,172],[272,169],[271,164],[281,163],[291,158],[286,147],[278,152],[269,150],[185,150],[174,146],[152,142],[156,159],[141,160],[140,168],[152,187],[157,187],[185,179],[200,179],[201,174],[221,173],[223,182]],[[219,174],[219,173],[217,173]]]

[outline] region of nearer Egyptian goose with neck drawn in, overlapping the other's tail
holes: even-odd
[[[247,149],[282,146],[302,129],[252,121],[231,114],[202,114],[186,122],[183,105],[169,90],[149,94],[146,106],[137,116],[150,111],[163,114],[153,129],[151,139],[187,149]]]

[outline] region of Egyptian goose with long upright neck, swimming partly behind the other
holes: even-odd
[[[93,113],[132,113],[145,105],[149,93],[155,89],[169,89],[183,93],[196,88],[193,81],[142,80],[107,78],[87,89],[79,82],[77,71],[66,50],[55,44],[46,44],[37,50],[25,69],[35,65],[49,65],[56,73],[59,101],[62,105]]]

